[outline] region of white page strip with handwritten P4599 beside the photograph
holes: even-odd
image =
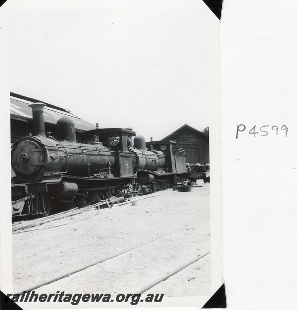
[[[296,309],[297,4],[225,0],[223,276],[228,309]],[[238,124],[247,130],[236,140]],[[252,126],[286,124],[261,137]],[[270,131],[271,132],[271,131]]]

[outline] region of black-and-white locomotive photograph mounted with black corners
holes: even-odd
[[[202,307],[223,283],[217,16],[202,0],[1,10],[4,293],[22,309]]]

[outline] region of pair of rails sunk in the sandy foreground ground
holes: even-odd
[[[67,272],[66,274],[63,274],[61,276],[52,278],[52,279],[50,279],[48,281],[45,281],[45,282],[41,282],[41,283],[36,284],[36,285],[34,285],[34,286],[30,287],[30,288],[26,288],[26,289],[20,291],[18,294],[21,295],[21,294],[24,294],[24,292],[29,292],[29,291],[33,291],[33,290],[37,290],[37,289],[44,289],[48,285],[49,285],[49,287],[53,287],[53,286],[55,286],[55,283],[57,284],[57,283],[59,283],[59,281],[63,281],[63,279],[64,279],[64,281],[68,281],[68,279],[66,279],[66,278],[68,278],[70,276],[75,276],[75,277],[82,276],[82,277],[84,277],[85,276],[85,274],[83,274],[84,270],[86,270],[88,272],[87,269],[90,270],[92,267],[94,267],[96,265],[99,266],[99,264],[100,265],[104,264],[104,263],[106,264],[107,261],[113,261],[113,260],[125,261],[125,260],[127,260],[127,256],[129,258],[131,258],[131,257],[133,258],[133,255],[135,255],[135,253],[136,253],[136,257],[137,257],[137,253],[139,253],[141,251],[146,251],[149,246],[151,246],[151,249],[154,249],[152,244],[154,244],[154,246],[157,245],[157,247],[155,247],[155,249],[156,249],[156,253],[158,253],[157,250],[158,250],[158,248],[160,248],[160,245],[162,245],[162,242],[164,244],[166,244],[166,243],[168,243],[169,240],[172,241],[174,239],[174,234],[176,234],[176,236],[177,236],[177,235],[182,233],[182,234],[184,234],[184,236],[186,236],[187,235],[187,231],[190,231],[191,229],[195,230],[197,228],[196,227],[194,227],[194,228],[183,227],[183,228],[180,228],[178,230],[171,231],[168,234],[164,234],[164,235],[162,235],[160,237],[156,237],[156,238],[154,238],[154,239],[152,239],[152,240],[150,240],[148,242],[145,242],[145,243],[140,242],[136,246],[134,246],[132,248],[129,248],[129,249],[125,250],[125,251],[116,253],[114,255],[111,255],[111,256],[103,258],[103,259],[99,259],[99,260],[97,260],[97,261],[95,261],[92,264],[89,264],[87,266],[83,266],[81,268],[77,268],[77,269],[72,270],[71,272]],[[175,239],[176,239],[176,236],[175,236]],[[150,252],[152,252],[152,251],[149,251],[149,253]],[[179,264],[178,267],[172,268],[170,271],[164,273],[163,276],[156,277],[153,280],[149,280],[148,284],[145,285],[145,286],[142,286],[141,289],[135,288],[135,293],[142,294],[142,293],[148,291],[150,288],[156,286],[157,284],[161,283],[162,281],[165,281],[169,277],[177,274],[178,272],[182,271],[186,267],[191,266],[192,264],[196,263],[200,259],[202,259],[205,256],[209,255],[209,253],[210,253],[210,251],[206,251],[206,252],[203,252],[203,253],[199,254],[198,256],[196,255],[190,261],[187,261],[186,263]],[[173,255],[171,255],[171,256],[173,256]],[[150,259],[150,257],[148,257],[148,259]],[[119,263],[118,264],[117,262],[114,262],[114,264],[116,264],[117,266],[124,266],[125,265],[124,263]],[[97,272],[98,272],[98,270],[97,270]],[[104,269],[103,269],[103,272],[104,272]],[[106,272],[108,273],[108,271],[106,271]],[[100,277],[101,276],[102,275],[100,273]],[[71,281],[71,279],[69,279],[69,281]],[[48,289],[49,289],[49,287],[48,287]],[[57,287],[59,287],[59,289],[63,288],[63,283],[57,284]]]

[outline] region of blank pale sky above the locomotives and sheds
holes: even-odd
[[[58,2],[4,4],[12,92],[147,140],[209,126],[218,20],[202,0]]]

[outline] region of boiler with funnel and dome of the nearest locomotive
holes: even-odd
[[[11,151],[12,169],[18,180],[40,182],[55,174],[90,177],[102,168],[114,166],[114,152],[101,142],[76,142],[74,122],[68,117],[57,121],[57,139],[50,133],[46,136],[42,111],[45,104],[30,106],[38,126],[32,136],[19,139]]]

